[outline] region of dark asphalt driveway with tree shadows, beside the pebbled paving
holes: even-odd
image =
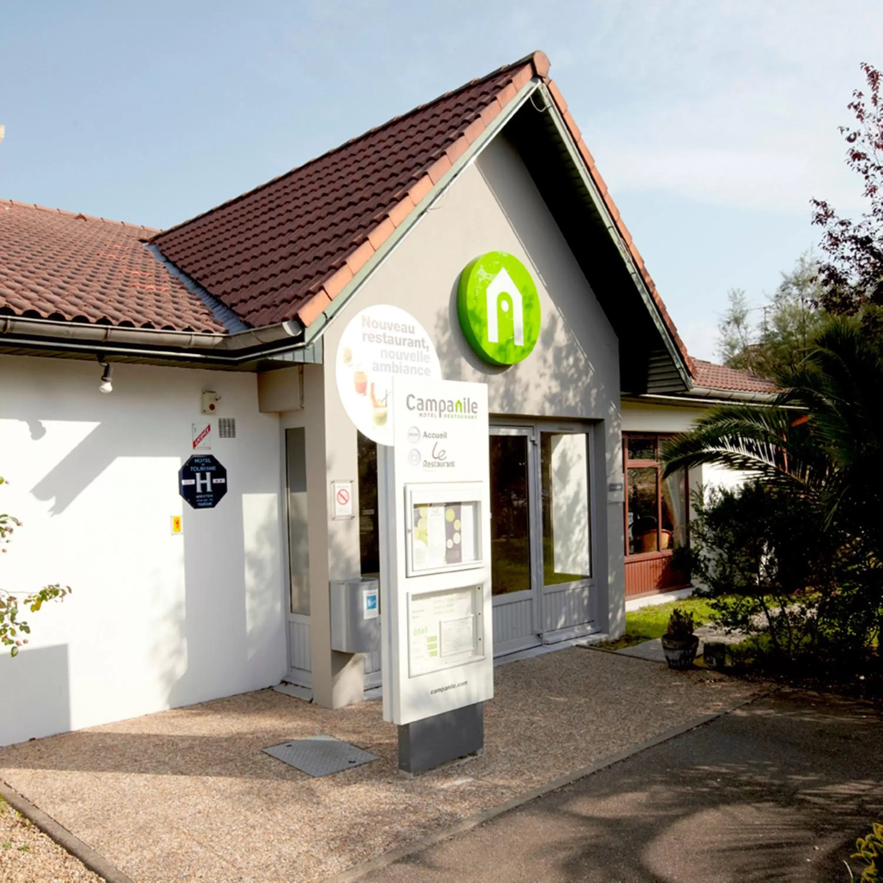
[[[870,706],[759,699],[360,879],[845,883],[883,820],[881,734]]]

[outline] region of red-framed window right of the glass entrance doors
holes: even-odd
[[[664,438],[623,434],[626,555],[666,553],[689,542],[687,472],[662,478],[660,442]]]

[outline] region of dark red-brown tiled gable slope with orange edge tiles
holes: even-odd
[[[318,316],[534,75],[537,53],[165,230],[155,245],[253,326]]]

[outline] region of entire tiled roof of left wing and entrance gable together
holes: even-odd
[[[298,169],[158,233],[169,260],[253,327],[313,322],[533,78],[542,79],[629,248],[684,364],[695,374],[644,260],[542,52],[472,80]],[[0,207],[6,208],[5,203]],[[200,298],[140,245],[154,230],[42,209],[18,232],[0,211],[0,313],[223,331]],[[39,217],[37,215],[40,215]],[[20,221],[20,225],[19,225]],[[79,226],[78,226],[79,225]],[[3,240],[6,240],[5,242]],[[36,250],[34,249],[34,246]],[[34,254],[38,260],[34,261]]]

